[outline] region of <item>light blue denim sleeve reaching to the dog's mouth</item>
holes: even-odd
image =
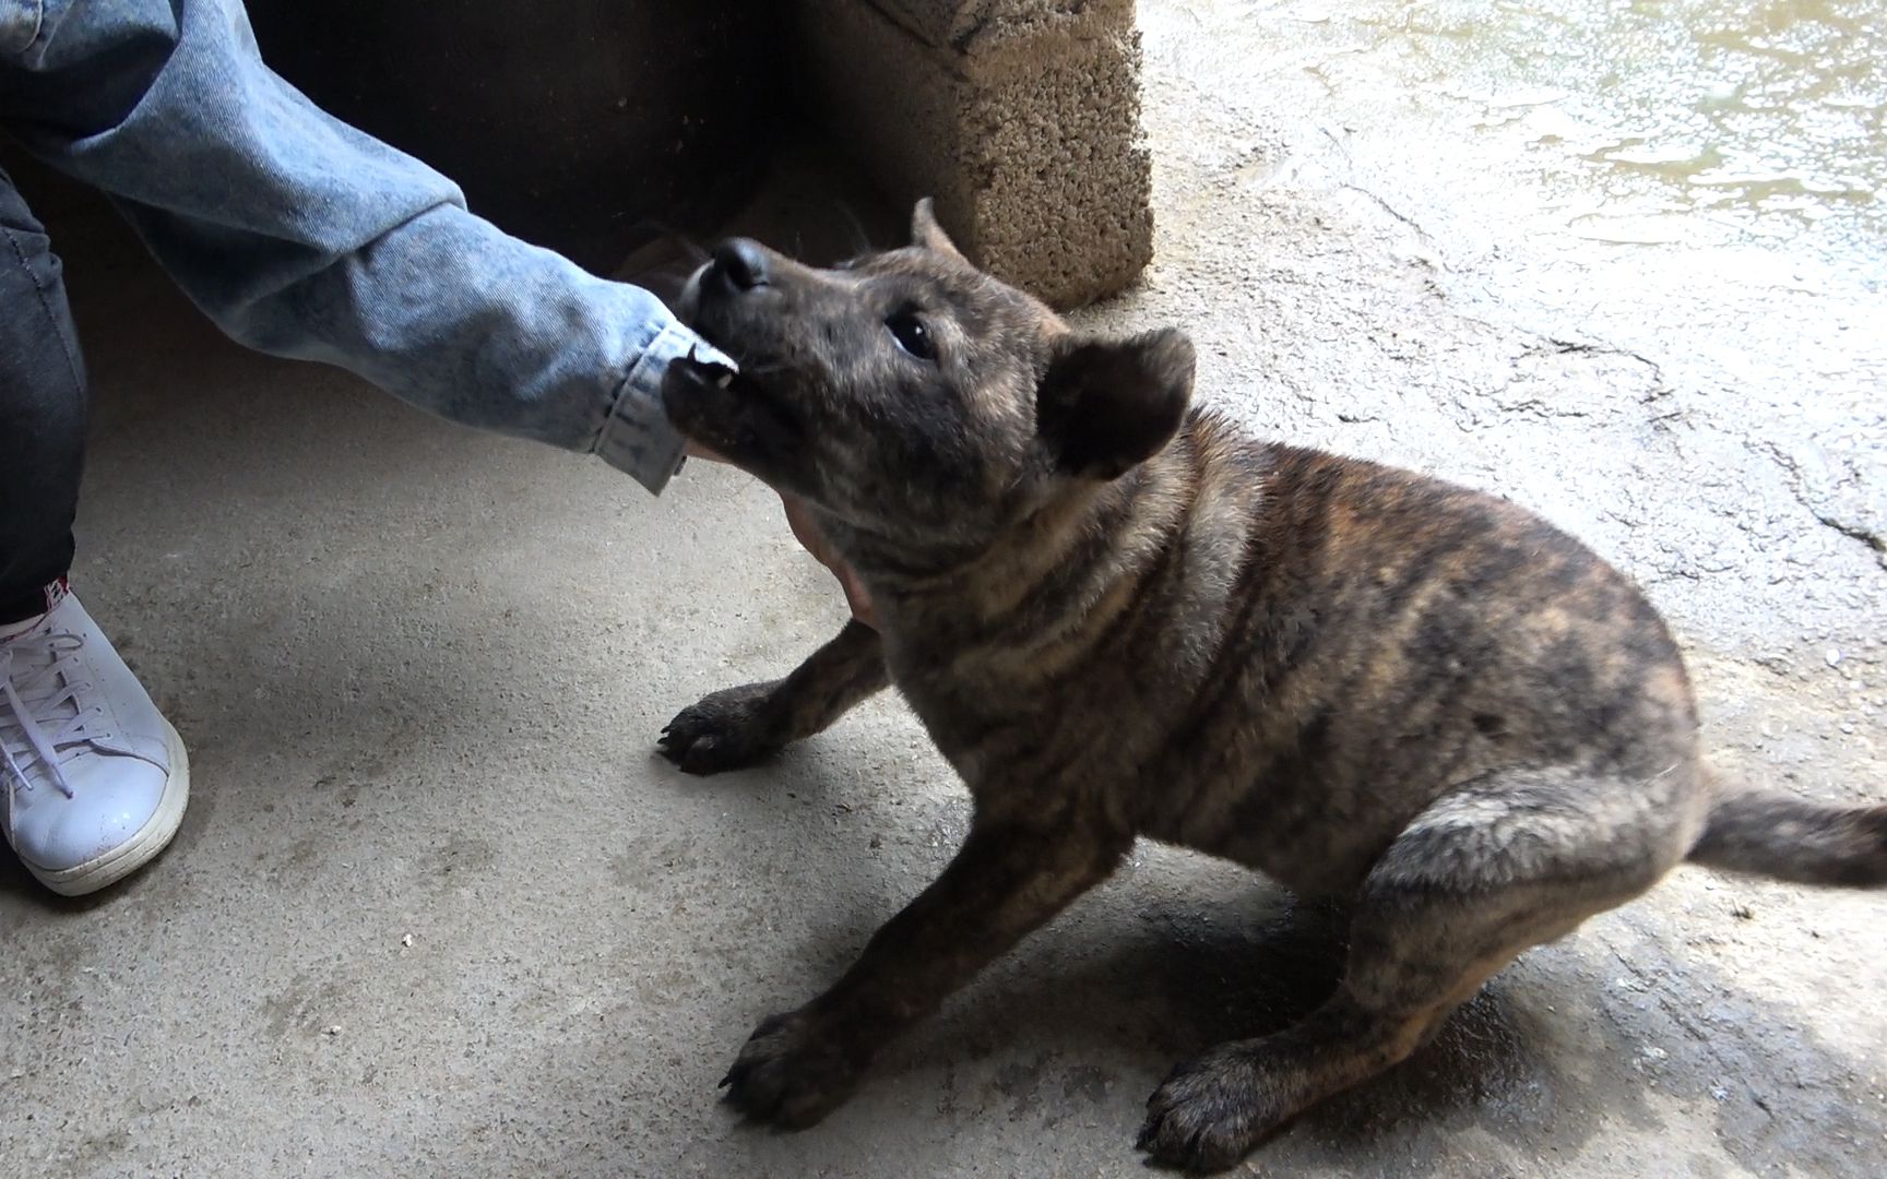
[[[500,232],[317,109],[262,64],[238,0],[0,0],[0,123],[108,192],[242,343],[602,455],[651,492],[681,466],[668,362],[725,362],[647,291]]]

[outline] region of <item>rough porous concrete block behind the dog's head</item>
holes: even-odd
[[[798,0],[821,121],[977,264],[1076,307],[1153,257],[1132,0]]]

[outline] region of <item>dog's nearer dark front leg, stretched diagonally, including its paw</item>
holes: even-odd
[[[810,1126],[872,1054],[1119,864],[1132,834],[1072,815],[977,817],[944,875],[893,917],[830,990],[774,1015],[723,1085],[759,1121]]]

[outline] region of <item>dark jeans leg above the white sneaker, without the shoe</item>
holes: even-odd
[[[42,615],[72,566],[85,364],[45,228],[0,172],[0,628]]]

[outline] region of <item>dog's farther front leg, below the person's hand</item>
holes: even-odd
[[[725,689],[691,704],[662,730],[662,756],[689,773],[751,766],[823,732],[891,683],[877,632],[853,619],[785,679]]]

